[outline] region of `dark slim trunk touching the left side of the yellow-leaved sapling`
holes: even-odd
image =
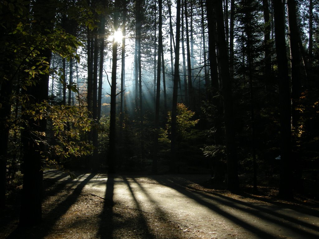
[[[186,5],[186,0],[185,0]],[[172,122],[171,122],[171,163],[170,170],[175,172],[176,168],[176,116],[177,116],[177,91],[179,81],[179,55],[180,55],[180,34],[181,34],[181,0],[176,4],[176,46],[175,46],[175,63],[174,63],[174,83],[173,83],[173,100],[172,100]]]

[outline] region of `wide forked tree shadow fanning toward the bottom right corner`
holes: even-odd
[[[218,206],[213,205],[212,201],[215,201],[221,205],[231,206],[233,208],[239,209],[241,211],[244,211],[244,212],[249,213],[249,214],[254,215],[254,216],[258,216],[258,217],[262,218],[263,220],[270,221],[272,223],[277,223],[278,225],[285,227],[285,228],[288,228],[289,230],[293,231],[294,233],[302,236],[302,238],[308,238],[308,239],[310,239],[310,238],[317,239],[318,238],[318,234],[308,232],[306,230],[298,228],[297,227],[297,225],[299,225],[298,220],[296,220],[292,217],[286,216],[287,220],[290,220],[290,221],[293,220],[293,223],[297,224],[295,226],[289,225],[289,224],[280,220],[283,216],[282,214],[274,213],[274,211],[272,211],[270,209],[266,210],[264,207],[252,206],[249,203],[244,203],[242,201],[238,201],[236,199],[231,199],[231,198],[228,198],[226,196],[224,196],[224,198],[222,198],[222,197],[220,197],[220,195],[207,196],[202,192],[196,192],[196,193],[191,192],[191,191],[185,189],[184,187],[182,187],[181,185],[176,185],[176,184],[172,183],[172,181],[169,181],[168,179],[163,179],[163,178],[159,179],[159,178],[155,178],[155,177],[154,178],[152,177],[152,179],[156,180],[158,183],[160,183],[162,185],[166,185],[166,186],[173,188],[174,190],[184,194],[185,196],[187,196],[190,199],[197,201],[199,204],[206,206],[207,208],[211,209],[212,211],[215,211],[216,213],[223,216],[224,218],[226,218],[230,221],[233,221],[234,223],[241,226],[242,228],[245,228],[246,230],[258,235],[259,238],[265,238],[265,239],[266,238],[273,238],[273,235],[260,229],[260,228],[257,228],[255,226],[249,224],[248,222],[245,222],[245,221],[239,219],[235,215],[232,215],[232,214],[225,212],[224,210],[222,210]],[[210,201],[206,201],[205,199],[209,199]],[[242,205],[242,206],[240,206],[240,205]],[[249,209],[247,207],[252,207],[253,209]],[[269,217],[268,215],[265,215],[264,213],[270,213],[270,214],[278,217],[278,219],[275,219],[273,217]],[[311,229],[318,230],[318,227],[316,227],[316,226],[310,227],[310,224],[308,224],[308,223],[304,223],[304,224]]]

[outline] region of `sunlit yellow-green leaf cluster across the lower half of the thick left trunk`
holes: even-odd
[[[90,154],[92,145],[83,137],[92,127],[86,107],[50,105],[44,101],[34,104],[33,108],[23,114],[36,122],[47,119],[51,125],[47,133],[32,132],[36,144],[43,143],[47,146],[46,151],[41,151],[43,162],[47,165],[58,165],[58,162],[66,162],[71,157]],[[28,124],[27,121],[25,123]]]

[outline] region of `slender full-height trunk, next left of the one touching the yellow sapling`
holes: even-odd
[[[159,39],[158,39],[159,44],[158,44],[158,53],[157,53],[157,83],[156,83],[156,104],[155,104],[155,121],[154,121],[155,131],[154,131],[153,163],[152,163],[153,173],[157,173],[157,161],[158,161],[160,66],[161,66],[161,55],[163,52],[162,0],[159,0],[158,4],[159,4]]]

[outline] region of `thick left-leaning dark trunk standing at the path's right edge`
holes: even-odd
[[[226,44],[226,35],[225,35],[223,4],[221,1],[214,1],[214,10],[216,15],[216,23],[217,23],[222,94],[224,99],[228,189],[232,191],[236,191],[239,188],[239,180],[238,180],[237,152],[236,152],[235,128],[234,128],[234,109],[233,109],[231,79],[229,74],[229,62],[228,62],[228,53],[227,53],[227,44]]]

